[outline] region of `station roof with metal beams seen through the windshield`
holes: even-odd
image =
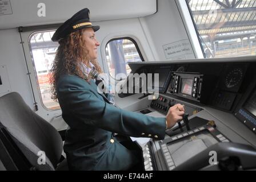
[[[255,0],[187,0],[203,35],[230,36],[256,35]]]

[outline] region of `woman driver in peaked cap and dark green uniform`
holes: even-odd
[[[115,139],[113,133],[130,137],[163,139],[165,130],[182,119],[184,108],[170,107],[166,118],[155,118],[111,105],[97,92],[90,70],[102,73],[97,63],[95,31],[89,9],[82,9],[63,23],[52,40],[59,43],[51,82],[54,97],[69,125],[64,151],[70,170],[142,169],[141,151]]]

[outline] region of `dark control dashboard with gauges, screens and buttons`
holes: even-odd
[[[148,101],[141,113],[166,115],[171,106],[181,103],[189,114],[180,125],[166,130],[164,140],[151,139],[142,147],[146,170],[219,170],[237,159],[235,169],[256,169],[256,57],[131,63],[130,67],[132,73],[159,73],[159,97]],[[210,150],[221,156],[217,167],[209,165]]]

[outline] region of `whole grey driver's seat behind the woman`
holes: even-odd
[[[0,128],[0,163],[5,169],[67,170],[66,160],[59,163],[61,135],[19,93],[0,97]]]

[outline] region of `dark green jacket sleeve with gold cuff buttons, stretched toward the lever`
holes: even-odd
[[[63,76],[57,85],[62,112],[101,129],[130,137],[165,137],[165,118],[155,118],[119,109],[106,103],[89,82],[77,76]]]

